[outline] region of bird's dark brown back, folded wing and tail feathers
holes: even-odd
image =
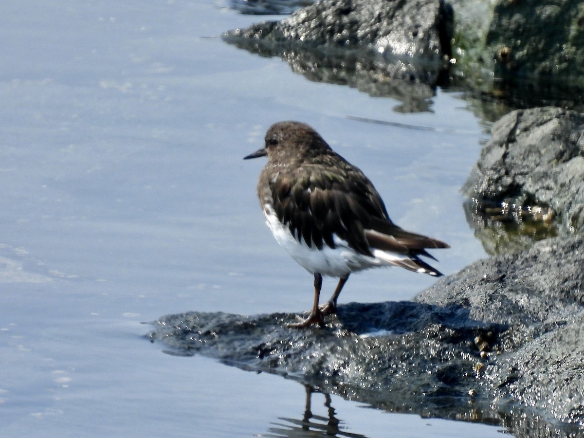
[[[262,179],[269,184],[262,184]],[[261,193],[262,187],[267,193]],[[338,155],[323,155],[317,165],[293,170],[266,168],[258,189],[260,199],[272,198],[277,217],[288,225],[299,242],[304,239],[310,247],[335,248],[333,234],[336,234],[364,255],[372,256],[371,248],[407,255],[412,259],[395,264],[440,274],[418,256],[433,258],[425,248],[449,248],[449,245],[392,223],[369,179]]]

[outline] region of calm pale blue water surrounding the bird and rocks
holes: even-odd
[[[0,436],[311,436],[303,385],[163,354],[140,324],[310,307],[310,275],[263,224],[263,163],[242,161],[274,121],[310,123],[394,221],[449,242],[434,252],[445,274],[485,256],[460,194],[485,128],[460,95],[399,113],[218,37],[256,20],[198,1],[0,5]],[[407,300],[432,282],[365,272],[340,301]],[[312,395],[314,421],[328,422],[324,403]],[[331,405],[338,436],[500,429]]]

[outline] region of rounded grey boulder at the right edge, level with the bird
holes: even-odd
[[[493,125],[465,184],[472,223],[477,229],[492,219],[526,223],[536,238],[584,232],[583,175],[584,114],[555,107],[513,111]]]

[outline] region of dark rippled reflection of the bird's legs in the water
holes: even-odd
[[[335,408],[331,406],[331,395],[324,394],[310,385],[304,385],[306,391],[306,401],[304,414],[301,419],[279,417],[281,422],[272,423],[267,434],[260,434],[260,437],[269,438],[307,438],[318,436],[338,436],[352,438],[366,438],[359,433],[350,433],[341,430],[342,421],[336,418]],[[324,406],[327,411],[326,416],[312,413],[312,394],[322,394],[325,398]]]

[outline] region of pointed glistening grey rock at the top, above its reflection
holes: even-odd
[[[440,0],[324,0],[280,22],[259,23],[226,36],[264,43],[372,47],[379,53],[441,61],[450,54],[450,41],[441,34],[449,16],[444,8]]]

